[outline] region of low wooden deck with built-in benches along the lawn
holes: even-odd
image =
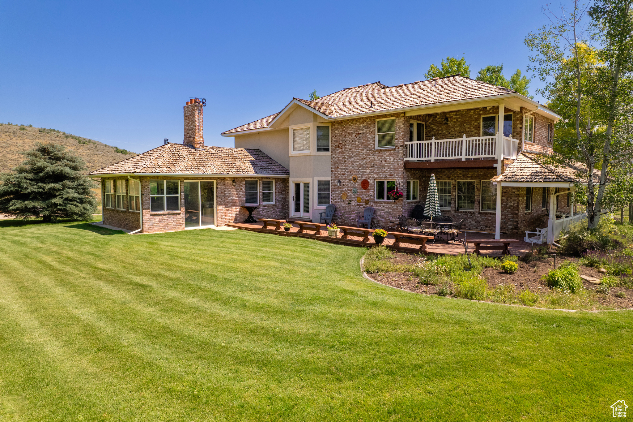
[[[315,239],[320,241],[325,241],[329,243],[339,243],[340,245],[348,245],[348,246],[368,246],[371,247],[375,245],[373,241],[373,237],[370,236],[369,241],[363,243],[362,238],[360,236],[349,236],[348,239],[341,239],[341,234],[339,234],[338,238],[330,238],[327,235],[327,230],[322,230],[320,235],[308,234],[308,233],[297,233],[299,230],[299,226],[297,224],[292,224],[292,228],[290,231],[275,231],[273,229],[262,229],[261,226],[263,223],[227,223],[229,227],[235,227],[237,229],[250,230],[258,233],[270,233],[277,234],[277,236],[295,236],[307,239]],[[494,234],[488,233],[465,233],[467,238],[477,238],[477,239],[494,239]],[[460,234],[459,238],[462,239],[464,237],[464,233]],[[512,238],[516,240],[521,240],[517,243],[512,243],[510,246],[510,253],[512,255],[524,255],[532,249],[532,245],[530,243],[523,242],[522,236],[518,234],[504,234],[504,238]],[[387,236],[383,245],[387,246],[390,249],[397,250],[399,252],[415,252],[419,253],[420,245],[409,245],[401,242],[401,246],[393,246],[394,237]],[[468,252],[472,252],[474,247],[472,245],[468,246]],[[444,240],[436,240],[433,244],[432,241],[427,243],[427,249],[424,251],[425,253],[434,253],[442,255],[444,253],[448,253],[449,255],[458,255],[459,253],[464,253],[464,246],[459,241],[446,242]],[[501,256],[500,253],[486,253],[483,256]]]

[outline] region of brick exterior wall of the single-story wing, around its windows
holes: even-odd
[[[111,179],[111,178],[108,178]],[[118,177],[126,179],[127,177]],[[185,229],[185,181],[215,180],[216,185],[216,226],[224,226],[227,222],[243,222],[248,217],[248,212],[241,208],[246,200],[246,180],[258,180],[259,208],[253,212],[253,217],[285,219],[288,215],[288,179],[285,177],[153,177],[152,180],[178,180],[180,182],[180,210],[152,212],[150,210],[149,180],[150,177],[141,179],[141,204],[143,213],[143,229],[141,233],[161,233],[166,231],[178,231]],[[235,180],[235,186],[233,186]],[[275,181],[275,203],[263,205],[262,183],[263,180]],[[103,185],[102,185],[103,186]],[[102,189],[103,190],[103,189]],[[102,200],[103,196],[102,195]],[[125,196],[125,210],[103,208],[104,224],[120,227],[127,230],[140,228],[139,212],[128,210],[128,198]]]

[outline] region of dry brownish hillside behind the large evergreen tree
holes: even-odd
[[[84,159],[88,172],[136,155],[115,146],[55,129],[0,124],[0,172],[7,172],[23,162],[25,157],[20,153],[31,150],[37,142],[53,142],[65,146]]]

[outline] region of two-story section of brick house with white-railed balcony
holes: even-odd
[[[442,215],[499,235],[547,220],[541,196],[554,189],[491,179],[523,152],[551,154],[559,117],[516,91],[454,75],[392,87],[375,82],[316,101],[293,98],[279,113],[222,135],[289,169],[287,211],[295,219],[318,221],[332,203],[335,221],[355,226],[372,206],[373,223],[393,228],[398,215],[424,204],[435,174]],[[395,188],[404,198],[390,200]],[[557,198],[568,207],[565,196]]]

